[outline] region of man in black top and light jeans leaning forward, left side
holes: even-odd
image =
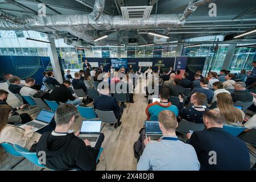
[[[76,98],[72,95],[71,90],[69,90],[69,86],[71,82],[69,80],[63,81],[60,86],[56,87],[52,90],[51,95],[49,96],[49,100],[63,102],[65,104],[73,104],[79,105],[81,104],[82,100]]]

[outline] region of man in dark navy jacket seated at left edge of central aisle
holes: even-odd
[[[102,89],[99,90],[101,94],[100,97],[94,98],[93,106],[94,109],[102,110],[102,111],[114,111],[115,118],[117,118],[117,125],[115,124],[115,128],[120,126],[122,122],[120,122],[123,107],[118,106],[117,100],[114,97],[110,96],[110,90],[108,86],[102,86]]]

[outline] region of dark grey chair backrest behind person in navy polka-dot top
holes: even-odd
[[[176,131],[182,134],[189,133],[189,130],[202,131],[204,130],[204,123],[195,123],[195,122],[190,122],[185,119],[182,119],[176,128]]]

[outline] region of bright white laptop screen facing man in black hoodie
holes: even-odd
[[[80,134],[99,134],[101,131],[101,121],[82,121]]]

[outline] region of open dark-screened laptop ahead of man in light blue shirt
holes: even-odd
[[[158,121],[145,121],[146,137],[150,137],[151,141],[157,141],[163,136]]]

